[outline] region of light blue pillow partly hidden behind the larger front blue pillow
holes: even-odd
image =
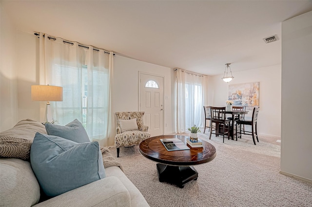
[[[90,142],[86,130],[77,119],[65,126],[45,124],[45,129],[49,135],[63,137],[78,143]]]

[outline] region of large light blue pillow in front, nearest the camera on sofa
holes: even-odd
[[[31,145],[30,163],[48,196],[57,196],[106,176],[98,142],[79,144],[37,132]]]

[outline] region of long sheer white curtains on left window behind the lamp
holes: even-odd
[[[110,81],[113,53],[62,38],[39,36],[40,84],[63,87],[63,101],[51,102],[54,119],[78,119],[91,141],[111,146]]]

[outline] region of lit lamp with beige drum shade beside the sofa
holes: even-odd
[[[47,101],[46,106],[46,123],[49,123],[48,119],[48,108],[50,112],[53,113],[49,101],[63,101],[63,87],[59,86],[49,86],[49,85],[32,85],[31,86],[31,100],[32,101]]]

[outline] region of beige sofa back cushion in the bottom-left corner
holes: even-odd
[[[28,161],[1,158],[0,171],[1,207],[30,207],[39,202],[39,184]]]

